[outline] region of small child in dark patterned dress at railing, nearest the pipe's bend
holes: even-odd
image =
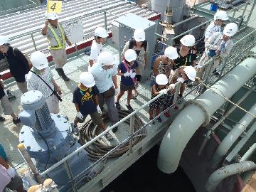
[[[168,78],[164,74],[159,74],[156,76],[156,84],[152,86],[151,91],[151,99],[156,97],[156,95],[159,95],[161,92],[164,92],[166,94],[166,89],[169,88],[169,82]],[[159,115],[160,110],[164,107],[164,101],[166,95],[161,95],[161,97],[154,100],[154,102],[151,102],[149,104],[149,120],[154,119],[154,112],[155,117]],[[162,122],[161,117],[157,118],[157,122]],[[154,124],[154,122],[151,122],[151,124]]]

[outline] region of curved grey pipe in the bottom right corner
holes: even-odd
[[[256,165],[252,161],[242,161],[236,164],[230,164],[228,166],[223,166],[220,169],[213,172],[208,178],[206,183],[206,191],[213,191],[220,181],[228,176],[233,176],[235,174],[241,174],[245,171],[255,170]]]

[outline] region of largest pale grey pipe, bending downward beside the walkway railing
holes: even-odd
[[[168,174],[176,171],[181,154],[188,141],[198,127],[204,123],[208,123],[210,121],[210,115],[218,110],[225,102],[220,95],[230,98],[255,73],[256,58],[246,58],[225,75],[225,77],[211,86],[211,89],[215,90],[215,92],[206,90],[198,99],[188,102],[188,106],[174,119],[174,122],[162,139],[157,161],[157,165],[161,171]]]

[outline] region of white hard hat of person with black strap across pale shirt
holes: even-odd
[[[31,63],[33,67],[37,68],[38,70],[48,67],[47,57],[40,51],[36,51],[31,54]]]

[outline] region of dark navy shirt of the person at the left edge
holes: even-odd
[[[18,48],[9,46],[7,53],[0,53],[0,60],[6,58],[9,63],[11,75],[16,82],[25,82],[25,74],[29,71],[28,60]]]

